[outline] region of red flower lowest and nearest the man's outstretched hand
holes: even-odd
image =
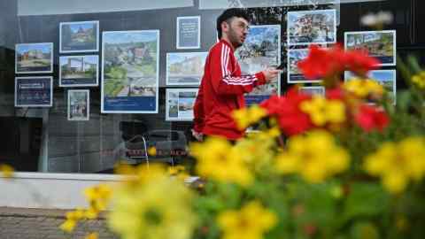
[[[299,109],[299,104],[310,98],[295,87],[288,90],[286,96],[272,96],[260,106],[277,118],[285,135],[297,135],[313,127],[310,117]]]

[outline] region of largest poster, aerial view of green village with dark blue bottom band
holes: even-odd
[[[101,109],[158,113],[159,31],[103,32]]]

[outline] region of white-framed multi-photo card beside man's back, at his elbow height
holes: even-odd
[[[166,89],[166,120],[193,120],[198,89]]]

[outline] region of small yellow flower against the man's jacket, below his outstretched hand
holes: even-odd
[[[254,104],[249,108],[243,108],[232,112],[232,116],[236,121],[236,126],[243,130],[267,116],[267,111],[259,107],[259,105]]]

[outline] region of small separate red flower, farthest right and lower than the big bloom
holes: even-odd
[[[374,129],[382,131],[390,123],[390,119],[385,112],[367,104],[362,104],[359,107],[359,112],[355,115],[354,120],[359,127],[367,132]]]

